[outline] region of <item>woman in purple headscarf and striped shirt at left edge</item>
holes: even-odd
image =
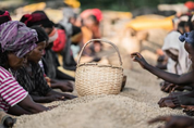
[[[35,114],[48,108],[35,103],[12,76],[36,47],[37,33],[21,22],[0,25],[0,108],[13,115]]]

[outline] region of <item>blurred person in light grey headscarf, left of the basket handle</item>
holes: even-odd
[[[62,66],[69,71],[75,71],[75,66],[76,66],[76,62],[73,56],[73,51],[71,49],[71,46],[72,46],[71,38],[76,35],[78,36],[78,38],[82,39],[81,30],[78,33],[76,31],[76,29],[80,29],[80,28],[73,25],[74,18],[75,18],[75,13],[73,12],[73,9],[71,7],[65,7],[63,9],[63,18],[62,21],[59,22],[59,26],[58,26],[59,28],[65,31],[65,38],[66,38],[65,47],[60,52],[60,55],[62,56]],[[80,42],[80,40],[77,41],[77,43]],[[75,52],[75,49],[73,50]]]

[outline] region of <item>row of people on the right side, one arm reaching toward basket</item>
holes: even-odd
[[[149,65],[137,52],[131,54],[133,61],[140,63],[144,69],[165,80],[160,84],[161,91],[169,95],[159,100],[159,106],[183,108],[189,116],[194,115],[194,15],[192,10],[172,21],[174,29],[165,38],[163,52],[160,53],[157,66]],[[186,116],[161,116],[150,120],[149,124],[156,121],[166,121],[163,128],[194,127],[194,119]]]

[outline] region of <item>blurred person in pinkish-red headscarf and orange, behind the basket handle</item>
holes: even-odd
[[[81,13],[82,18],[82,31],[83,31],[83,43],[85,44],[90,39],[101,38],[100,34],[100,22],[102,20],[102,14],[99,9],[85,10]],[[100,42],[95,42],[88,44],[85,49],[85,54],[95,55],[95,53],[100,52],[102,44]]]

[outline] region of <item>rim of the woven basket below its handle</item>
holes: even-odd
[[[81,66],[90,66],[90,65],[96,65],[98,67],[112,67],[112,68],[120,68],[123,71],[122,66],[116,66],[116,65],[110,65],[110,64],[98,64],[98,63],[82,63],[82,64],[77,64],[76,68],[81,67]]]

